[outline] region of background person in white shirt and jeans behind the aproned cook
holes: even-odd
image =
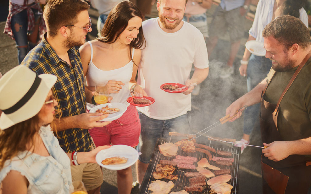
[[[302,1],[295,0],[260,0],[257,5],[255,19],[251,29],[249,30],[249,40],[257,40],[263,43],[262,31],[267,24],[281,15],[293,15],[308,27],[308,16],[304,8]],[[249,59],[249,61],[248,61]],[[251,54],[246,48],[243,58],[241,60],[241,66],[239,68],[240,74],[246,77],[247,91],[251,91],[255,86],[267,76],[271,69],[271,61],[265,56],[256,56]],[[244,112],[244,125],[243,125],[243,137],[239,143],[249,144],[250,134],[253,129],[259,128],[258,115],[260,106],[254,105]],[[243,153],[246,146],[236,144],[235,146],[241,147],[241,153]]]

